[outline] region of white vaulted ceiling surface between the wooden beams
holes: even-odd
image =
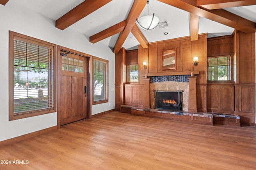
[[[68,11],[84,2],[84,0],[10,0],[29,8],[35,12],[42,14],[52,20],[57,20]],[[119,23],[127,18],[130,8],[132,7],[134,0],[112,0],[102,8],[99,8],[95,12],[89,14],[80,21],[77,21],[66,29],[73,29],[78,31],[87,37],[90,37],[100,31]],[[8,5],[8,4],[7,4]],[[174,39],[178,37],[185,37],[190,35],[189,28],[189,12],[172,7],[168,4],[164,4],[157,0],[150,0],[149,13],[153,12],[160,19],[160,22],[167,21],[168,27],[159,28],[145,31],[141,29],[144,37],[149,43],[155,41],[162,41],[166,39]],[[151,10],[152,9],[152,10]],[[256,22],[256,5],[225,8],[225,10],[232,12],[238,16]],[[140,14],[145,16],[147,14],[147,7]],[[234,31],[234,28],[222,25],[215,21],[208,20],[206,18],[199,19],[198,33],[208,33],[208,37],[216,37],[221,35],[230,35]],[[164,32],[168,32],[168,35],[164,35]],[[118,33],[119,34],[119,33]],[[113,48],[118,34],[108,37],[98,43],[104,43]],[[137,49],[138,41],[130,33],[122,45],[126,50]]]

